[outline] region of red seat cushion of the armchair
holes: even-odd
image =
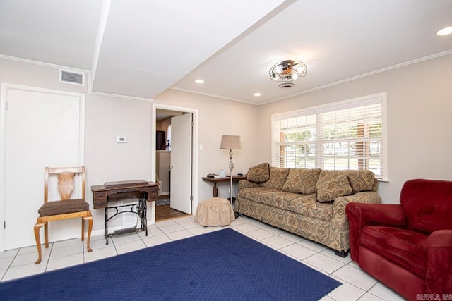
[[[421,278],[427,275],[427,235],[401,228],[365,226],[359,244],[403,266]]]

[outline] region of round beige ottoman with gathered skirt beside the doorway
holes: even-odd
[[[222,197],[205,199],[196,209],[195,223],[201,226],[227,226],[234,220],[231,203]]]

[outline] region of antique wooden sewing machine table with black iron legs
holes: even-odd
[[[104,185],[91,186],[93,191],[93,207],[94,209],[105,209],[105,240],[108,245],[108,237],[112,235],[119,235],[130,233],[134,231],[145,231],[148,236],[147,226],[147,202],[155,202],[158,199],[158,184],[155,182],[148,182],[145,180],[128,180],[118,182],[106,182]],[[117,205],[118,201],[124,199],[137,199],[136,202],[128,204]],[[123,208],[119,211],[119,208]],[[114,209],[115,213],[112,216],[108,215],[108,210]],[[123,213],[137,214],[141,219],[140,227],[124,228],[108,233],[108,221],[114,216]]]

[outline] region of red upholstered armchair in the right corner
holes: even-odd
[[[452,182],[408,180],[400,204],[351,202],[345,213],[350,256],[364,271],[408,300],[450,300]]]

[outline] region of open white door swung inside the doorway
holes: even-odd
[[[191,214],[192,114],[171,118],[170,207]]]

